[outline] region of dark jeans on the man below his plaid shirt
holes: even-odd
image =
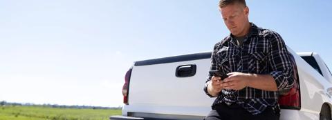
[[[252,115],[237,104],[227,106],[220,103],[212,107],[212,111],[205,117],[205,120],[279,120],[279,112],[271,107],[266,108],[261,114]]]

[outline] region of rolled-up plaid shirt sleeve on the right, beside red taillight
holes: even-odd
[[[270,74],[277,83],[278,91],[290,90],[294,84],[294,75],[291,59],[284,40],[277,32],[271,33],[270,52],[268,61],[272,68]]]

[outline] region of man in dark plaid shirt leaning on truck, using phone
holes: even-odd
[[[277,32],[248,19],[245,0],[221,0],[219,10],[230,36],[216,43],[204,90],[216,97],[205,119],[279,119],[278,91],[293,87],[293,63]]]

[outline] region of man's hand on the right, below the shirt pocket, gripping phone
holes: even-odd
[[[230,72],[227,74],[228,77],[223,79],[221,86],[227,90],[241,90],[248,86],[248,79],[250,74],[242,72]]]

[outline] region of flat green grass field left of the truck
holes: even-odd
[[[121,110],[0,106],[0,120],[106,120]]]

